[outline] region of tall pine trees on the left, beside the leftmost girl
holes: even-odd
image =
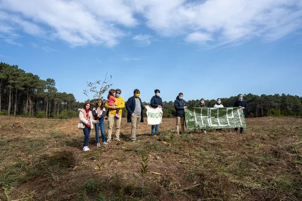
[[[70,118],[78,116],[82,104],[72,93],[58,92],[54,79],[0,63],[0,115]]]

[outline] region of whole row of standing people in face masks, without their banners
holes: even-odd
[[[120,141],[120,126],[121,126],[121,116],[122,109],[126,107],[127,110],[127,123],[131,123],[131,137],[132,142],[136,141],[136,135],[138,131],[138,126],[140,122],[143,122],[143,110],[146,106],[142,106],[141,99],[139,97],[140,91],[134,89],[133,96],[129,97],[125,105],[125,100],[122,98],[121,89],[110,89],[107,97],[107,102],[103,104],[102,100],[98,100],[95,104],[95,107],[91,111],[91,103],[86,102],[83,108],[80,110],[79,118],[80,122],[85,125],[83,129],[84,132],[84,145],[83,151],[89,151],[88,141],[90,136],[91,129],[95,126],[96,131],[96,146],[100,146],[99,140],[99,130],[102,135],[102,143],[108,145],[111,140]],[[150,106],[152,108],[162,108],[163,109],[163,100],[160,97],[160,90],[155,89],[155,95],[150,100]],[[197,108],[206,108],[206,102],[204,98],[200,99]],[[221,104],[221,99],[217,98],[214,108],[223,108]],[[243,95],[238,95],[238,100],[235,102],[234,107],[239,107],[243,109],[244,117],[246,116],[247,104],[243,100]],[[106,114],[107,108],[107,114]],[[184,132],[184,122],[185,114],[184,110],[187,108],[186,101],[183,99],[183,93],[179,93],[174,101],[174,108],[176,110],[176,133],[181,134]],[[108,132],[105,137],[105,117],[108,120]],[[181,131],[179,127],[181,126]],[[115,128],[115,134],[112,136],[112,130]],[[216,129],[217,130],[217,129]],[[221,130],[221,129],[220,129]],[[235,131],[238,131],[238,128],[235,128]],[[151,126],[151,136],[156,136],[159,132],[159,125]],[[206,130],[202,129],[202,132],[206,134]],[[243,133],[243,128],[240,128],[240,133]],[[107,139],[107,140],[106,140]]]

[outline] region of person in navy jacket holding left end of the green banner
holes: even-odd
[[[183,99],[184,94],[180,92],[174,101],[174,108],[176,110],[176,133],[179,132],[179,124],[181,124],[181,132],[185,132],[185,108],[187,108],[186,100]]]

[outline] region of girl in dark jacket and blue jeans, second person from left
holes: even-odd
[[[105,124],[104,124],[104,117],[106,116],[106,112],[102,100],[98,100],[96,104],[96,108],[93,108],[92,116],[94,117],[95,120],[98,120],[98,123],[95,124],[97,147],[100,146],[99,128],[101,128],[103,144],[107,145],[108,143],[105,141]]]

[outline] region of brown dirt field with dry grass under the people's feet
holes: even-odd
[[[302,200],[302,120],[246,122],[176,135],[164,119],[151,137],[145,121],[132,143],[123,118],[120,142],[96,147],[92,130],[83,152],[78,118],[0,117],[0,200]]]

